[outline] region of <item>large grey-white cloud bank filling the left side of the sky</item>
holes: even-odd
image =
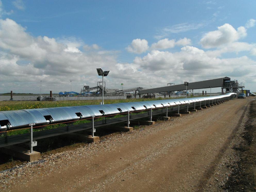
[[[61,91],[67,79],[73,80],[74,83],[79,82],[80,88],[89,80],[98,81],[96,68],[108,66],[108,70],[114,69],[111,65],[116,63],[114,55],[83,53],[79,50],[81,41],[72,39],[34,37],[15,21],[0,19],[2,86],[16,81],[32,84],[35,79],[40,78],[45,84],[47,82],[48,90],[52,86],[52,89]],[[96,45],[92,47],[97,48]],[[33,86],[28,90],[31,87]]]

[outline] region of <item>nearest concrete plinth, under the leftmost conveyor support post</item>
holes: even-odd
[[[7,147],[1,147],[1,152],[9,154],[11,156],[21,158],[26,161],[37,161],[40,157],[41,154],[40,152],[33,151],[30,153],[30,150],[24,149],[22,147],[17,147],[17,146],[7,146]]]

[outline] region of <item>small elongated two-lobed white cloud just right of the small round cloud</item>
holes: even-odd
[[[178,46],[185,46],[190,45],[191,39],[187,39],[186,37],[183,39],[179,39],[178,41],[175,41],[175,39],[169,40],[168,38],[161,39],[157,43],[153,43],[151,45],[151,49],[168,49],[173,48],[175,45]]]

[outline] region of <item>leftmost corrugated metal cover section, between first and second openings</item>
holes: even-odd
[[[23,110],[16,111],[1,111],[9,120],[11,126],[20,127],[28,125],[30,123],[35,123],[35,118],[31,114]]]

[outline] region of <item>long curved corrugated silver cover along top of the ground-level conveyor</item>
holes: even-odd
[[[193,97],[182,99],[163,99],[156,101],[142,101],[129,103],[115,103],[107,105],[82,105],[73,107],[54,107],[39,109],[24,109],[0,112],[0,129],[13,129],[27,127],[29,124],[46,125],[51,123],[68,122],[78,119],[88,119],[93,116],[109,116],[147,109],[169,107],[176,105],[192,104],[200,101],[212,101],[215,99],[229,98],[236,95],[227,93],[225,95]]]

